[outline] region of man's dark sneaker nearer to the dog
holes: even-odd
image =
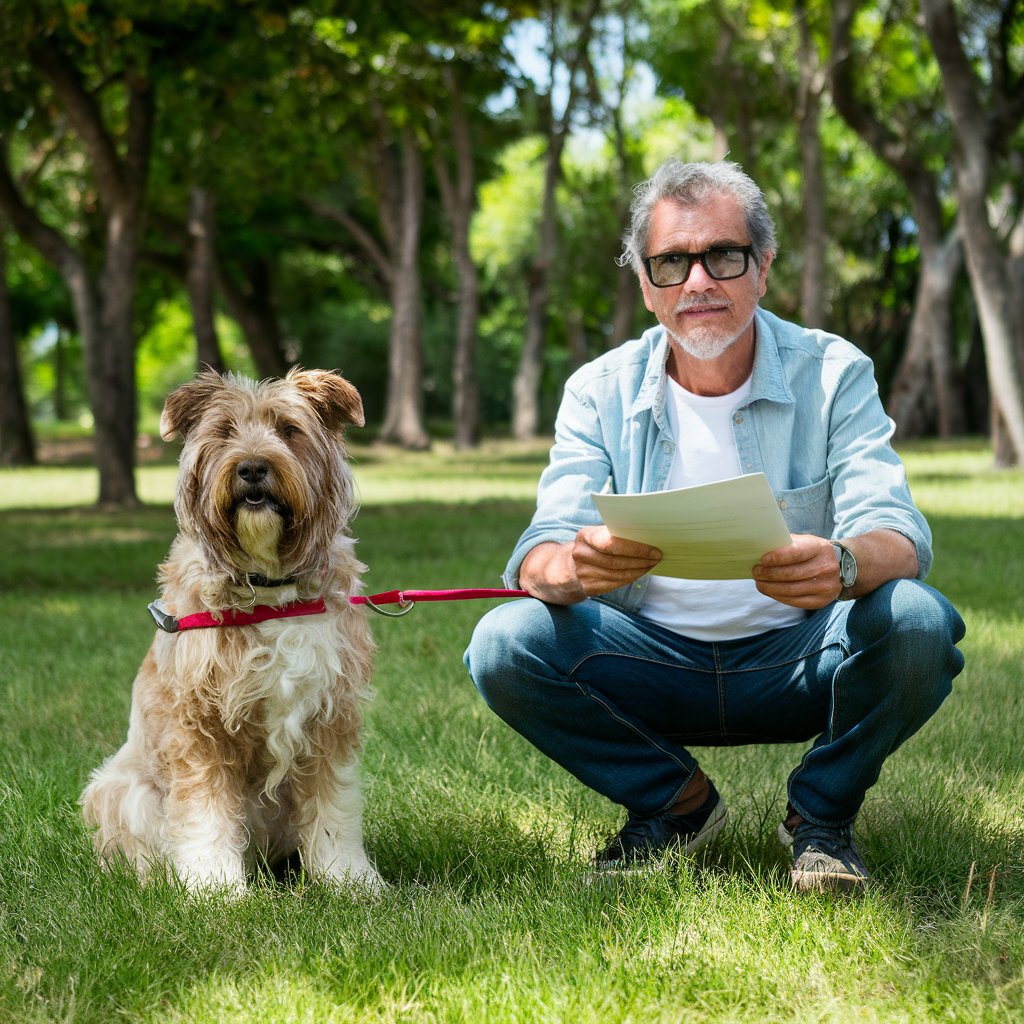
[[[631,814],[618,835],[594,858],[597,871],[630,871],[650,867],[666,853],[694,853],[724,827],[725,801],[715,784],[708,799],[689,814]]]

